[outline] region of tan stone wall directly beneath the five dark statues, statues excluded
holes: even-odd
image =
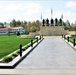
[[[45,36],[61,36],[62,34],[67,34],[63,26],[42,26],[40,30],[40,35]]]

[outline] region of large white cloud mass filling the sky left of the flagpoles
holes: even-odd
[[[6,3],[0,4],[0,21],[16,20],[36,20],[41,13],[41,5],[32,3]]]

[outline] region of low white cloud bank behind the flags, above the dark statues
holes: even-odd
[[[51,11],[48,9],[47,11],[46,11],[46,18],[49,18],[49,20],[51,19]],[[69,20],[71,23],[74,23],[75,22],[75,20],[76,20],[76,14],[75,14],[75,12],[72,12],[72,11],[53,11],[53,19],[55,19],[55,18],[58,18],[58,19],[60,19],[61,18],[61,15],[63,14],[63,20],[64,20],[64,22],[66,21],[66,20]],[[45,19],[46,19],[45,18]]]

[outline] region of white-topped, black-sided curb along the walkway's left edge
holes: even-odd
[[[44,38],[43,38],[44,39]],[[27,55],[29,55],[34,48],[41,42],[43,41],[43,39],[39,40],[38,43],[36,42],[33,47],[29,47],[27,50],[25,50],[22,53],[22,57],[20,57],[20,55],[18,55],[15,59],[13,59],[11,62],[9,63],[0,63],[0,68],[3,69],[12,69],[14,67],[16,67],[25,57],[27,57]]]

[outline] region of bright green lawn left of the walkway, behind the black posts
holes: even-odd
[[[18,38],[16,35],[0,36],[0,59],[19,49],[20,44],[24,46],[30,41],[31,39]]]

